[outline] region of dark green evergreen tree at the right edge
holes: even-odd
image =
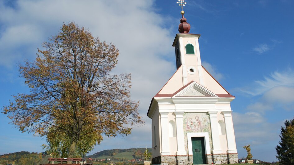
[[[280,142],[277,145],[277,158],[281,164],[294,164],[294,118],[286,120],[281,128]]]

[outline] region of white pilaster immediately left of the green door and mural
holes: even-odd
[[[184,126],[183,114],[184,112],[174,112],[176,115],[176,128],[177,128],[177,155],[186,155],[184,144]]]

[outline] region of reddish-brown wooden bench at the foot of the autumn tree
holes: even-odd
[[[72,163],[68,163],[71,161]],[[84,165],[86,163],[85,158],[48,158],[48,164],[44,165]],[[55,163],[56,162],[56,163]]]

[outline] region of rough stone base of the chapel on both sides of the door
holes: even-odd
[[[238,154],[206,154],[207,164],[238,163]],[[161,165],[193,165],[193,155],[168,155],[152,158],[152,164]]]

